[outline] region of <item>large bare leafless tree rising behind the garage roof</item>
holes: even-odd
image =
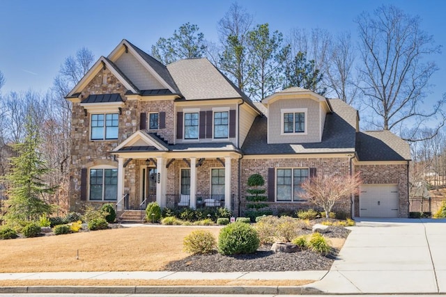
[[[440,47],[420,28],[420,17],[380,6],[374,16],[364,12],[355,22],[360,33],[360,88],[367,106],[378,115],[373,124],[392,130],[408,120],[419,123],[440,114],[445,96],[429,112],[422,106],[429,79],[438,70],[426,59]]]

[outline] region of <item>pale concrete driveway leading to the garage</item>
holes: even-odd
[[[323,280],[332,294],[446,293],[446,220],[357,218]]]

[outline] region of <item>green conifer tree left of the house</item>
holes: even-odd
[[[26,136],[22,143],[13,145],[17,156],[12,157],[11,170],[5,176],[8,182],[7,220],[37,220],[42,214],[49,214],[52,208],[43,200],[43,194],[52,193],[42,180],[49,170],[40,157],[40,138],[31,117],[26,118]]]

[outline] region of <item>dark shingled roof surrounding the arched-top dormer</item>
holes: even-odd
[[[328,99],[321,143],[267,143],[267,117],[258,116],[243,143],[245,154],[321,154],[355,152],[357,112],[341,99]]]

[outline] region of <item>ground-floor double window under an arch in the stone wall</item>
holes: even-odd
[[[90,200],[116,200],[117,195],[117,169],[90,169]]]

